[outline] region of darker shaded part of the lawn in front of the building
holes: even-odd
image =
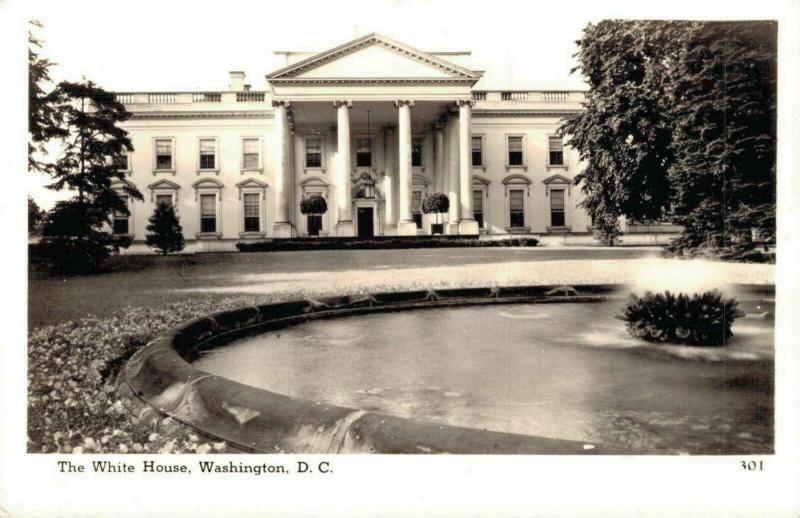
[[[371,272],[385,277],[396,270],[463,265],[502,271],[505,263],[657,255],[656,250],[637,248],[437,248],[122,256],[114,259],[117,264],[113,267],[118,271],[112,273],[78,277],[31,274],[28,326],[35,329],[87,314],[109,316],[129,305],[160,307],[190,298],[216,300],[238,294],[268,293],[274,291],[270,284],[283,289],[290,281],[296,281],[295,285],[308,293],[309,289],[313,292],[313,287],[303,280],[311,280],[309,277],[321,277],[317,287],[322,293],[327,291],[329,280],[345,272],[365,274],[365,278]],[[259,276],[268,281],[251,282]]]

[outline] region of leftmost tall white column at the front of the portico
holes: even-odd
[[[291,128],[289,102],[272,101],[275,109],[275,224],[272,235],[276,238],[292,237],[289,220],[289,197],[292,181]]]

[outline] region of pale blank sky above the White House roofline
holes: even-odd
[[[590,22],[748,15],[735,4],[651,4],[32,0],[22,9],[44,24],[42,54],[57,63],[53,79],[85,76],[112,91],[224,90],[229,70],[244,70],[253,89],[263,90],[264,75],[281,66],[274,51],[322,51],[370,32],[426,51],[471,51],[472,67],[485,71],[489,89],[584,88],[580,74],[570,71],[575,40]],[[30,176],[34,198],[51,206],[58,195],[41,188],[45,178]]]

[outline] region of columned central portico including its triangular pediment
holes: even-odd
[[[450,199],[448,233],[477,235],[470,146],[471,88],[479,79],[374,34],[268,75],[276,118],[274,236],[306,233],[292,203],[293,178],[330,184],[327,226],[335,236],[427,233],[419,204],[433,189]],[[325,144],[334,142],[328,151]],[[292,159],[292,150],[301,156]]]

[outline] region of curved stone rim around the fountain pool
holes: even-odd
[[[118,377],[121,396],[236,449],[257,453],[611,454],[599,444],[439,425],[308,401],[193,367],[200,350],[313,319],[454,306],[607,300],[623,285],[549,285],[384,292],[220,311],[159,333]],[[774,291],[765,285],[738,285]]]

